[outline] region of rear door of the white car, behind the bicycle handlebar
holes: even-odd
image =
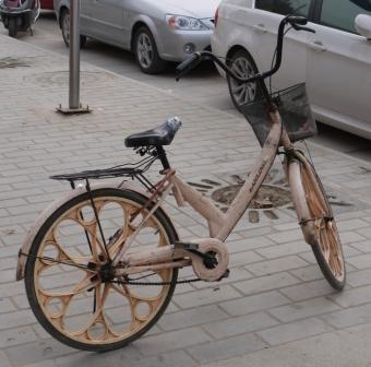
[[[277,29],[283,15],[296,14],[310,19],[314,2],[312,0],[256,0],[253,24],[254,45],[258,47],[260,71],[272,68],[272,58],[277,43]],[[307,72],[307,32],[289,31],[285,36],[283,64],[273,76],[274,88],[303,82]]]

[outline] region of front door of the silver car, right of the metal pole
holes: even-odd
[[[91,0],[93,34],[96,38],[123,46],[128,43],[127,0]]]

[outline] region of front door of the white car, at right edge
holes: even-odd
[[[370,14],[366,9],[371,4],[369,0],[322,0],[318,5],[316,33],[308,43],[312,107],[324,122],[359,133],[357,129],[371,125],[371,43],[356,33],[355,17]]]

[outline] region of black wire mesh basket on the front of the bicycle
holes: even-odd
[[[306,83],[290,86],[272,94],[291,142],[303,140],[316,134],[313,118],[306,92]],[[267,102],[259,99],[242,105],[241,113],[251,125],[261,144],[271,131],[272,120],[268,116]]]

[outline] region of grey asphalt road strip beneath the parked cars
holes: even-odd
[[[1,26],[0,33],[7,34],[7,31]],[[52,12],[41,13],[34,27],[34,36],[20,33],[17,38],[55,52],[69,54]],[[176,83],[175,66],[170,66],[165,74],[146,75],[139,70],[134,57],[130,52],[95,40],[88,40],[86,48],[82,50],[81,59],[167,91],[185,100],[204,103],[230,114],[238,114],[230,102],[226,81],[218,75],[211,63],[203,64],[179,83]],[[85,100],[82,102],[85,103]],[[160,121],[154,121],[154,123]],[[314,141],[354,157],[371,162],[371,142],[366,139],[319,123],[319,135],[314,138]]]

